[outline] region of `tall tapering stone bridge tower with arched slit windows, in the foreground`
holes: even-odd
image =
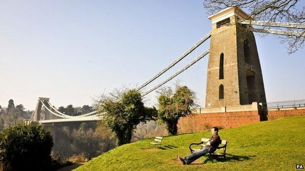
[[[209,17],[212,21],[205,108],[266,102],[254,35],[239,19],[251,18],[238,7]]]

